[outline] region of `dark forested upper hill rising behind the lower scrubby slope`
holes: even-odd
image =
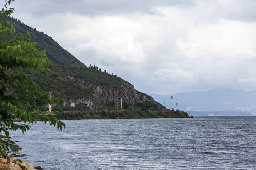
[[[35,28],[25,25],[20,20],[7,17],[6,19],[2,19],[5,22],[13,22],[16,33],[20,32],[22,34],[27,31],[31,35],[31,42],[37,42],[38,48],[41,50],[45,50],[48,56],[48,59],[52,64],[62,65],[62,66],[85,66],[82,62],[80,62],[77,58],[75,58],[68,51],[63,49],[56,41],[52,39],[52,37],[44,34],[44,32],[38,31]],[[58,28],[57,28],[58,29]],[[11,40],[13,37],[11,36],[7,40]]]

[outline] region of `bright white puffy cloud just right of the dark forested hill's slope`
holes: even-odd
[[[122,37],[109,37],[108,39],[93,39],[87,44],[76,45],[72,51],[79,52],[81,60],[94,61],[96,58],[103,61],[105,58],[116,63],[142,62],[144,53],[140,42],[136,42],[131,33],[125,32]],[[104,65],[104,62],[102,63]]]

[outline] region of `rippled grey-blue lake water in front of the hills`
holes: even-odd
[[[256,117],[64,123],[11,133],[21,159],[45,170],[256,169]]]

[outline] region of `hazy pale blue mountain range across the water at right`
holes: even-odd
[[[161,104],[165,101],[164,105],[167,109],[169,109],[169,107],[177,109],[176,102],[178,100],[178,109],[186,112],[241,111],[243,113],[250,112],[251,114],[256,115],[256,90],[246,91],[225,88],[175,93],[170,95],[146,94],[152,96],[155,101]],[[172,103],[171,96],[173,96]],[[206,113],[204,112],[203,114]]]

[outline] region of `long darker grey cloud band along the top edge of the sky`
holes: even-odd
[[[22,9],[19,10],[33,13],[34,16],[66,13],[67,11],[88,16],[116,15],[133,12],[159,15],[159,11],[154,10],[155,7],[176,5],[189,7],[195,4],[191,0],[18,0],[15,2],[15,6],[22,6]]]

